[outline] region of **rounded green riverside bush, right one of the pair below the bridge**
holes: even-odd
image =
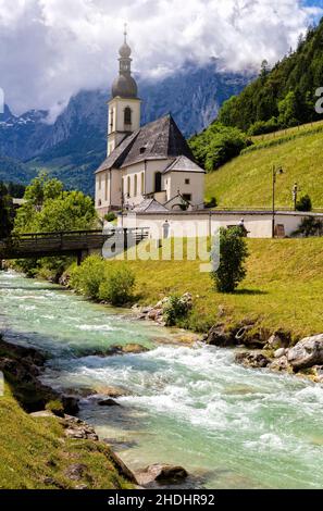
[[[99,287],[99,298],[112,306],[124,306],[133,300],[134,287],[135,275],[126,265],[121,267],[109,265]]]

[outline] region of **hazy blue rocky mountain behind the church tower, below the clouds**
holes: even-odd
[[[188,63],[160,80],[138,78],[141,123],[172,112],[179,128],[189,137],[208,126],[222,103],[239,94],[250,78],[248,74],[220,72],[216,62],[204,67]],[[52,125],[47,124],[45,111],[34,110],[15,116],[7,107],[0,114],[0,155],[24,162],[36,171],[46,169],[67,188],[92,194],[92,172],[105,154],[108,99],[108,89],[80,91],[71,98]],[[16,174],[15,165],[16,162],[12,171],[7,171],[7,180],[28,180],[28,175],[22,179],[21,174]]]

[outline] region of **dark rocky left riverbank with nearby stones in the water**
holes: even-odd
[[[129,344],[126,346],[113,346],[107,352],[97,354],[113,357],[127,353],[138,354],[145,351],[147,351],[145,347]],[[178,488],[188,487],[185,484],[189,484],[190,478],[182,466],[153,464],[140,470],[136,474],[133,473],[119,456],[112,451],[111,447],[107,445],[107,441],[100,441],[94,427],[75,416],[79,410],[79,399],[92,395],[92,389],[84,389],[82,396],[71,389],[71,392],[66,395],[53,390],[40,382],[39,377],[44,372],[47,359],[46,353],[39,352],[34,348],[10,344],[0,336],[0,371],[3,372],[13,397],[30,417],[36,421],[54,419],[62,427],[66,439],[74,443],[95,443],[96,447],[92,450],[107,452],[113,469],[126,482],[128,487],[142,489],[162,488],[170,485]],[[100,394],[102,392],[107,396],[107,399],[98,401],[100,407],[119,406],[114,399],[125,395],[123,389],[115,387],[105,387],[100,390]],[[72,454],[71,459],[73,459]],[[75,489],[95,488],[95,485],[92,485],[94,477],[87,464],[72,463],[65,470],[64,477],[72,483],[72,487]],[[45,477],[42,483],[44,487],[65,488],[54,477]]]

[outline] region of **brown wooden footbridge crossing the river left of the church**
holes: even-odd
[[[45,257],[75,256],[77,262],[94,251],[102,251],[109,240],[112,252],[126,250],[147,239],[148,228],[115,228],[110,230],[71,230],[60,233],[33,233],[0,239],[2,259],[39,259]]]

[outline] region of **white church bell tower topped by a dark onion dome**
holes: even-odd
[[[132,49],[127,43],[125,25],[124,42],[119,50],[119,76],[112,85],[108,112],[108,157],[133,132],[140,127],[138,87],[132,76]]]

